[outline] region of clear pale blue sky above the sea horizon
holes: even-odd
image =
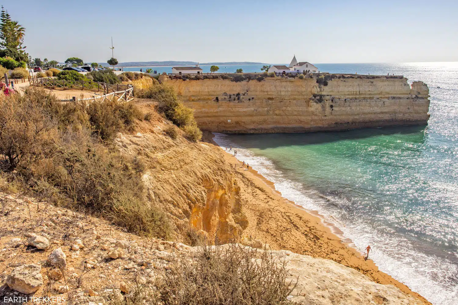
[[[33,58],[458,61],[458,1],[9,1]]]

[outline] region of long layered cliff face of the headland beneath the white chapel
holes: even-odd
[[[367,78],[365,78],[367,77]],[[306,132],[425,124],[429,89],[405,78],[173,80],[200,128],[224,133]]]

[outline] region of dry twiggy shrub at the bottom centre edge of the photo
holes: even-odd
[[[155,286],[158,300],[174,305],[287,305],[297,281],[287,282],[285,263],[268,251],[241,245],[202,247],[174,262]]]

